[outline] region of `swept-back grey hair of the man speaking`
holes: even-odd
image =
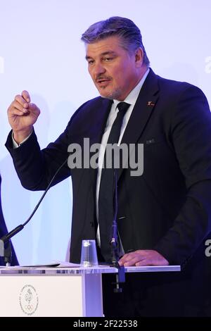
[[[110,36],[122,39],[122,47],[127,51],[136,51],[139,47],[143,50],[143,63],[148,67],[150,62],[146,55],[139,27],[129,18],[113,16],[108,20],[101,20],[91,25],[82,35],[85,44],[92,44]]]

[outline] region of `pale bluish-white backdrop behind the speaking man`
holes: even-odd
[[[4,147],[6,109],[27,89],[41,108],[42,147],[62,132],[77,107],[98,95],[87,73],[82,32],[113,15],[134,20],[151,67],[197,85],[211,104],[210,0],[0,0],[0,172],[8,230],[24,223],[41,192],[25,190]],[[72,213],[71,180],[53,187],[37,214],[13,238],[19,261],[65,260]]]

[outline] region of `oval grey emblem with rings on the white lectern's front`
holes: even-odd
[[[37,311],[39,304],[36,289],[32,285],[25,285],[20,291],[19,302],[20,308],[25,315],[33,315]]]

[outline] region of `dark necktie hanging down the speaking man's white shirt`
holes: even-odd
[[[113,123],[110,130],[110,135],[108,137],[108,144],[117,144],[120,139],[120,131],[122,127],[122,120],[124,115],[129,108],[129,104],[126,102],[120,102],[117,105],[119,109],[117,117]],[[101,184],[98,196],[98,222],[100,226],[101,235],[101,254],[110,262],[110,240],[111,240],[111,227],[114,216],[114,160],[106,158],[106,151],[104,156],[104,168],[101,172]],[[106,163],[111,165],[111,168],[106,168]]]

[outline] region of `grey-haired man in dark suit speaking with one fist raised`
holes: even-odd
[[[79,107],[56,142],[40,151],[32,127],[39,108],[28,92],[15,96],[8,108],[13,132],[6,147],[22,185],[46,189],[68,158],[70,144],[78,144],[85,155],[84,137],[92,146],[101,143],[97,170],[65,165],[53,185],[72,176],[70,261],[79,262],[82,239],[97,239],[99,259],[109,262],[113,207],[106,211],[103,206],[106,186],[101,165],[103,146],[114,137],[123,102],[127,111],[117,142],[133,144],[136,155],[143,144],[144,169],[139,176],[132,175],[130,165],[118,171],[120,265],[179,264],[183,271],[129,274],[122,294],[113,294],[113,276],[104,276],[104,312],[106,316],[209,316],[211,261],[204,244],[211,232],[207,100],[197,87],[153,73],[139,28],[127,18],[95,23],[82,40],[89,74],[101,96]],[[103,219],[105,213],[108,217]]]

